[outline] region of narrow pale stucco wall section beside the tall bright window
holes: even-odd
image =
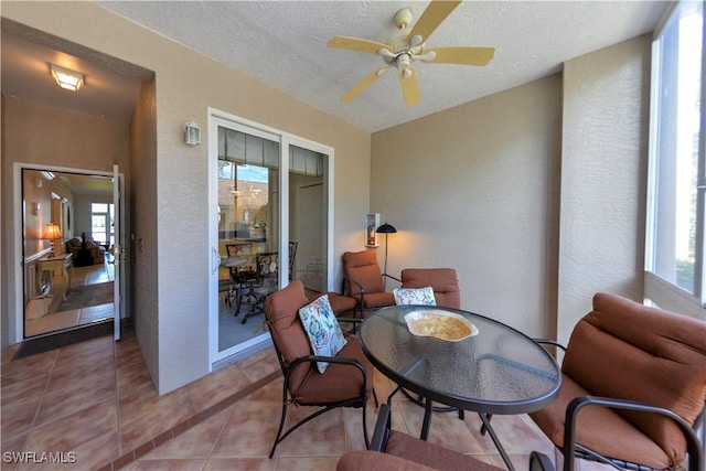
[[[649,35],[564,67],[559,340],[608,291],[642,301]]]

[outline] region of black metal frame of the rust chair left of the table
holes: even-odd
[[[341,321],[349,321],[349,322],[357,322],[357,320],[354,319],[340,319]],[[268,329],[270,328],[270,322],[267,321],[267,327]],[[282,374],[285,375],[285,382],[282,384],[282,413],[281,413],[281,418],[279,421],[279,428],[277,429],[277,436],[275,437],[275,442],[272,443],[272,449],[269,452],[269,458],[272,458],[275,456],[275,450],[277,449],[277,446],[285,440],[292,431],[297,430],[299,427],[301,427],[302,425],[307,424],[308,421],[319,417],[320,415],[339,408],[339,407],[355,407],[359,408],[361,407],[363,409],[363,437],[365,439],[365,447],[368,448],[370,447],[370,440],[368,440],[368,435],[367,435],[367,420],[366,420],[366,405],[367,405],[367,395],[366,395],[366,390],[365,390],[365,385],[367,384],[367,373],[365,372],[365,366],[363,366],[359,361],[354,360],[354,358],[346,358],[346,357],[335,357],[335,356],[320,356],[320,355],[307,355],[307,356],[301,356],[297,360],[295,360],[293,362],[291,362],[291,364],[289,366],[287,366],[285,358],[281,354],[281,352],[279,351],[279,349],[277,347],[276,343],[272,343],[275,345],[275,352],[277,353],[277,360],[279,362],[279,367],[282,371]],[[339,402],[332,402],[332,403],[303,403],[303,402],[299,402],[296,400],[296,398],[293,397],[289,397],[289,376],[291,375],[291,372],[300,364],[302,363],[311,363],[311,364],[315,364],[317,362],[328,362],[328,363],[338,363],[338,364],[342,364],[342,365],[349,365],[353,368],[356,368],[362,375],[363,375],[363,389],[361,392],[361,394],[356,397],[352,397],[350,399],[346,400],[339,400]],[[312,365],[312,367],[315,367],[314,365]],[[378,402],[377,402],[377,394],[375,393],[375,389],[373,388],[373,397],[375,399],[375,407],[378,407]],[[295,424],[293,426],[289,427],[287,429],[287,431],[285,430],[285,422],[287,420],[287,410],[288,410],[288,406],[289,404],[297,404],[297,405],[301,405],[301,406],[317,406],[317,407],[322,407],[319,410],[315,410],[314,413],[308,415],[307,417],[304,417],[303,419],[299,420],[297,424]]]

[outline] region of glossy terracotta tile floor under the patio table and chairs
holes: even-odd
[[[281,411],[271,346],[163,396],[133,333],[117,343],[103,336],[12,361],[17,346],[2,353],[0,364],[2,470],[334,470],[343,453],[364,448],[360,409],[339,409],[297,430],[267,458]],[[375,372],[381,400],[392,388]],[[376,415],[371,400],[371,431]],[[395,429],[418,435],[421,418],[420,407],[395,397]],[[555,457],[528,417],[495,416],[493,424],[518,470],[527,469],[532,450]],[[502,467],[479,427],[473,414],[463,421],[435,414],[429,440]],[[17,463],[12,452],[34,452],[32,461],[54,453],[65,463]]]

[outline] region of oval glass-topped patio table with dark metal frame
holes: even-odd
[[[460,341],[413,334],[405,315],[435,312],[461,315],[478,333]],[[509,469],[513,465],[493,430],[493,414],[526,414],[550,404],[561,374],[555,358],[522,332],[472,312],[436,306],[393,306],[368,314],[361,325],[365,355],[398,388],[424,397],[421,439],[432,402],[479,414]],[[397,392],[393,392],[394,395]],[[388,399],[389,400],[389,399]]]

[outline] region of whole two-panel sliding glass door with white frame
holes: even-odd
[[[327,289],[332,150],[215,110],[208,127],[213,367],[269,339],[269,293]]]

